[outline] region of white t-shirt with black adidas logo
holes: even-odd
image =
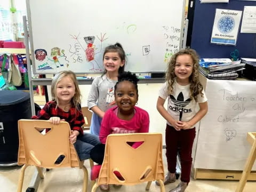
[[[167,82],[165,82],[162,88],[159,90],[159,97],[164,100],[168,98],[167,111],[177,121],[179,121],[179,119],[181,118],[181,121],[187,122],[196,115],[197,103],[194,98],[191,100],[189,97],[189,86],[190,84],[185,86],[179,85],[175,81],[173,83],[173,93],[171,95],[168,95]],[[202,97],[201,94],[198,94],[198,103],[203,103],[207,101],[204,90],[203,95],[204,97]],[[167,124],[172,126],[169,122],[167,122]]]

